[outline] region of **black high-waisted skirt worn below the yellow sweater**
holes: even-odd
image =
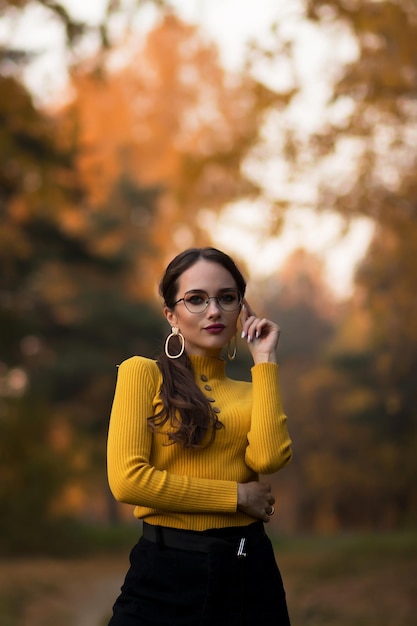
[[[109,626],[289,626],[262,522],[204,532],[144,524]]]

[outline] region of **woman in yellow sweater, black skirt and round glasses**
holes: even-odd
[[[172,328],[165,352],[119,367],[109,484],[117,500],[135,505],[143,534],[111,626],[289,624],[264,532],[275,500],[258,480],[291,459],[276,363],[280,331],[256,316],[245,288],[223,252],[179,254],[160,284]],[[221,359],[226,346],[235,356],[239,316],[252,383],[227,378]]]

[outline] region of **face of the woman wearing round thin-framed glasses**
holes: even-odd
[[[233,276],[220,264],[200,259],[181,274],[178,280],[177,300],[191,290],[205,291],[209,296],[219,296],[227,289],[237,289]],[[164,309],[171,326],[179,328],[185,339],[188,354],[219,357],[221,349],[234,336],[240,314],[223,311],[217,300],[211,298],[202,313],[191,313],[184,302],[173,309]]]

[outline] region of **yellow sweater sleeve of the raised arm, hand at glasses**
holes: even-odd
[[[245,460],[259,474],[272,474],[292,458],[278,370],[276,363],[259,363],[251,370],[253,406]]]

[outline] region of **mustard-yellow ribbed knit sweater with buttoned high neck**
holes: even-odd
[[[249,383],[228,378],[220,359],[190,358],[224,427],[207,448],[167,445],[167,431],[154,434],[147,423],[162,406],[156,362],[138,356],[124,361],[108,434],[110,488],[151,524],[189,530],[250,524],[255,520],[237,510],[237,483],[276,472],[292,455],[278,365],[255,365]]]

